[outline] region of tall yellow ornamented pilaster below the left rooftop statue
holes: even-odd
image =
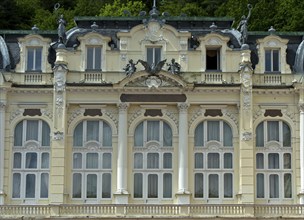
[[[65,49],[57,49],[54,71],[52,163],[50,177],[50,203],[65,202],[65,146],[66,146],[66,77],[68,73]]]

